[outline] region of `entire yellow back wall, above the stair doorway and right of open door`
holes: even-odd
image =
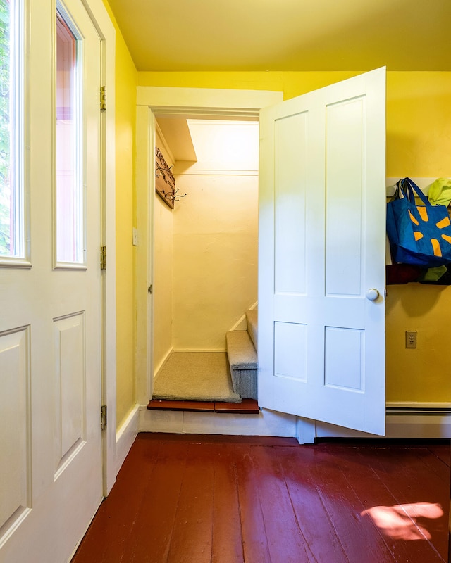
[[[142,86],[264,89],[284,98],[357,72],[139,72]],[[451,72],[388,72],[388,177],[451,177]],[[387,400],[451,401],[443,369],[451,289],[389,286]],[[404,331],[418,331],[418,348],[404,348]]]

